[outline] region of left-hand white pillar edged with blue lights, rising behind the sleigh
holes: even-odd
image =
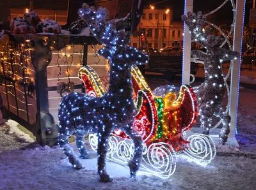
[[[193,12],[193,0],[185,0],[184,13],[188,11]],[[183,33],[182,85],[189,84],[190,79],[191,34],[185,23]]]

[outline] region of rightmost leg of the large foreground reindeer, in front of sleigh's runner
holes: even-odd
[[[134,156],[129,161],[128,166],[130,168],[131,178],[135,178],[136,172],[140,168],[140,162],[143,152],[143,140],[141,138],[141,135],[132,127],[132,123],[130,124],[130,126],[131,128],[125,128],[125,133],[131,137],[134,143]]]

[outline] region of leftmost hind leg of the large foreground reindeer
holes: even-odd
[[[61,150],[63,150],[64,154],[68,157],[68,161],[72,164],[73,168],[76,170],[83,169],[84,166],[80,163],[79,159],[76,157],[76,154],[72,147],[68,143],[68,137],[70,137],[74,131],[64,131],[64,126],[60,124],[59,136],[58,136],[58,144],[60,145]]]

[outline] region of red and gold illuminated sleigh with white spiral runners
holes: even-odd
[[[179,96],[168,92],[164,98],[156,97],[148,87],[137,66],[132,66],[134,101],[137,106],[134,128],[143,137],[141,170],[162,178],[170,177],[176,168],[177,156],[184,155],[191,161],[208,164],[215,156],[215,145],[209,136],[194,134],[187,139],[185,131],[197,119],[196,98],[189,85],[180,87]],[[86,93],[102,96],[108,80],[86,66],[79,70]],[[106,83],[107,82],[107,83]],[[89,135],[93,150],[97,150],[97,134]],[[114,131],[109,138],[108,159],[127,164],[133,156],[134,145],[123,131]],[[181,154],[182,153],[182,154]]]

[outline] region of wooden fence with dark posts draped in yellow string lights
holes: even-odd
[[[79,68],[89,61],[99,75],[108,73],[106,59],[95,54],[96,45],[91,36],[12,36],[8,51],[1,52],[3,117],[22,124],[41,145],[54,145],[61,94],[84,91]]]

